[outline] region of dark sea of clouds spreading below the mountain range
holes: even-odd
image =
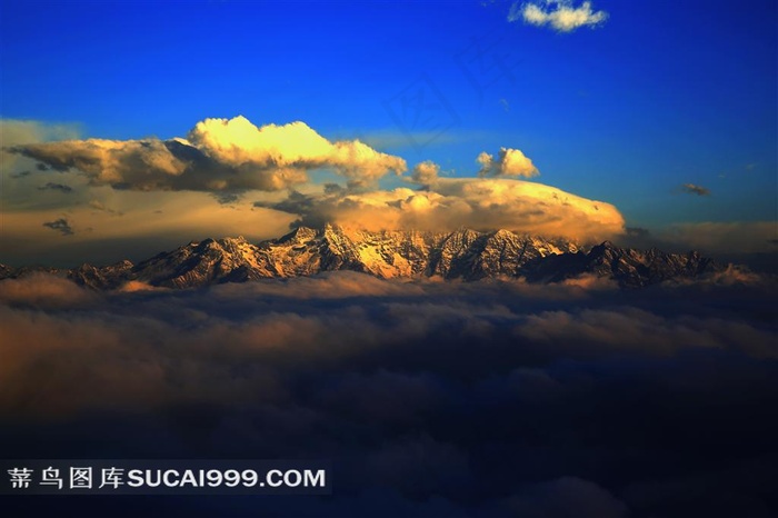
[[[335,482],[322,499],[6,512],[769,516],[776,292],[356,272],[106,293],[3,280],[0,440],[14,457],[326,458]]]

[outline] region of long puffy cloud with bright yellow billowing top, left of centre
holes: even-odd
[[[256,127],[243,117],[206,119],[188,139],[63,140],[19,143],[12,153],[60,171],[78,170],[92,186],[131,190],[280,190],[332,169],[366,186],[406,162],[358,141],[330,142],[303,122]]]

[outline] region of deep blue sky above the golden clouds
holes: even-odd
[[[458,176],[511,147],[629,226],[775,220],[778,2],[594,7],[607,23],[558,33],[510,2],[2,0],[0,114],[112,139],[302,120]],[[402,112],[419,91],[445,108]]]

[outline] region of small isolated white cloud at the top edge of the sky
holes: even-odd
[[[576,7],[571,0],[545,0],[541,2],[516,2],[511,6],[508,21],[550,26],[558,32],[571,32],[580,27],[597,27],[608,19],[606,11],[595,11],[591,2]]]

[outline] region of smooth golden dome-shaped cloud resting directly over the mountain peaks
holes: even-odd
[[[439,179],[423,191],[292,193],[283,201],[259,205],[297,215],[301,225],[311,227],[332,222],[368,230],[502,228],[580,241],[612,238],[625,223],[610,203],[510,179]]]

